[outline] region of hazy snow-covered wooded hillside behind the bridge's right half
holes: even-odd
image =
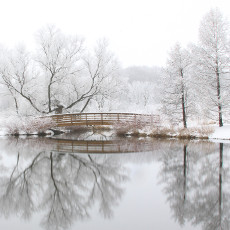
[[[121,71],[121,76],[126,81],[123,111],[157,112],[160,101],[161,72],[162,68],[156,66],[131,66]]]

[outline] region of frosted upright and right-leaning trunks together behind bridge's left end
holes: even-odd
[[[47,79],[45,104],[52,112],[61,103],[64,109],[83,112],[96,97],[108,96],[108,89],[118,70],[114,55],[106,41],[99,41],[93,52],[83,53],[83,42],[65,37],[49,28],[39,34],[39,53],[36,61],[42,76]],[[111,87],[110,87],[111,86]]]

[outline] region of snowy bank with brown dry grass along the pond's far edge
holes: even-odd
[[[20,116],[0,116],[0,136],[6,135],[41,135],[47,130],[55,127],[50,118],[20,117]],[[104,127],[98,127],[103,131]],[[209,139],[209,140],[230,140],[230,124],[223,127],[213,124],[193,124],[193,127],[184,129],[168,125],[144,127],[127,124],[114,124],[107,127],[113,134],[120,136],[153,137],[153,138],[178,138],[178,139]],[[70,130],[71,132],[71,130]]]

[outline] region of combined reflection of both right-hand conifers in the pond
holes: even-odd
[[[229,161],[224,144],[184,143],[163,154],[162,183],[174,218],[205,230],[230,228]]]

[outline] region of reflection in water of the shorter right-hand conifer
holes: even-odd
[[[164,192],[174,210],[174,217],[183,225],[187,209],[187,187],[188,187],[188,150],[187,144],[171,142],[167,151],[162,155],[163,168],[162,182],[166,184]]]

